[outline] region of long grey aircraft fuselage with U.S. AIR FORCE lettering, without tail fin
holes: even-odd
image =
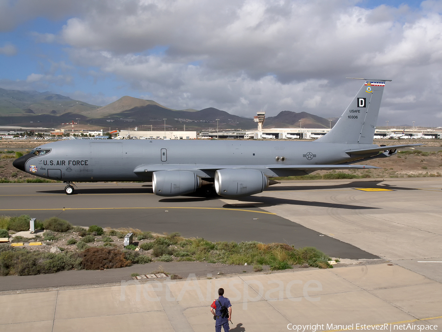
[[[372,147],[377,146],[359,144],[354,149]],[[177,165],[200,178],[214,177],[215,169],[210,170],[210,165],[258,169],[267,177],[277,177],[307,173],[268,167],[340,164],[356,159],[345,153],[348,150],[351,145],[319,142],[69,140],[36,148],[38,154],[22,157],[20,169],[60,181],[150,181],[152,171],[134,173],[140,165],[155,170],[173,170]]]

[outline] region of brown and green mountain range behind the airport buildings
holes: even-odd
[[[202,110],[173,110],[153,100],[124,96],[109,105],[99,107],[51,92],[13,91],[0,89],[0,125],[69,128],[76,122],[79,128],[126,129],[152,127],[162,130],[254,129],[251,118],[238,117],[213,107]],[[217,121],[219,119],[219,121]],[[309,113],[282,111],[268,117],[264,128],[329,128],[337,119],[325,119]],[[30,124],[32,122],[32,125]],[[218,122],[218,123],[217,123]],[[161,128],[161,129],[160,129]]]

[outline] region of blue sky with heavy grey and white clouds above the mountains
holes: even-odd
[[[0,0],[0,87],[104,106],[340,116],[387,82],[378,126],[442,126],[442,1]]]

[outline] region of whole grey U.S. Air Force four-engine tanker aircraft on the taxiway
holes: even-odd
[[[420,144],[373,144],[382,93],[390,80],[363,80],[335,126],[314,142],[67,140],[39,146],[13,165],[64,181],[68,195],[74,193],[74,181],[152,181],[159,196],[192,194],[203,187],[227,198],[260,193],[276,183],[273,177],[377,168],[353,164]]]

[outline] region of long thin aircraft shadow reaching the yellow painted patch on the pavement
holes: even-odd
[[[334,184],[334,185],[315,185],[309,183],[308,185],[287,185],[283,187],[268,187],[265,191],[284,191],[284,190],[314,190],[314,189],[342,189],[342,188],[355,188],[355,189],[390,189],[390,190],[418,190],[415,188],[398,187],[396,185],[390,185],[388,183],[382,183],[384,180],[373,181],[353,181],[348,183]],[[297,182],[299,183],[299,182]]]

